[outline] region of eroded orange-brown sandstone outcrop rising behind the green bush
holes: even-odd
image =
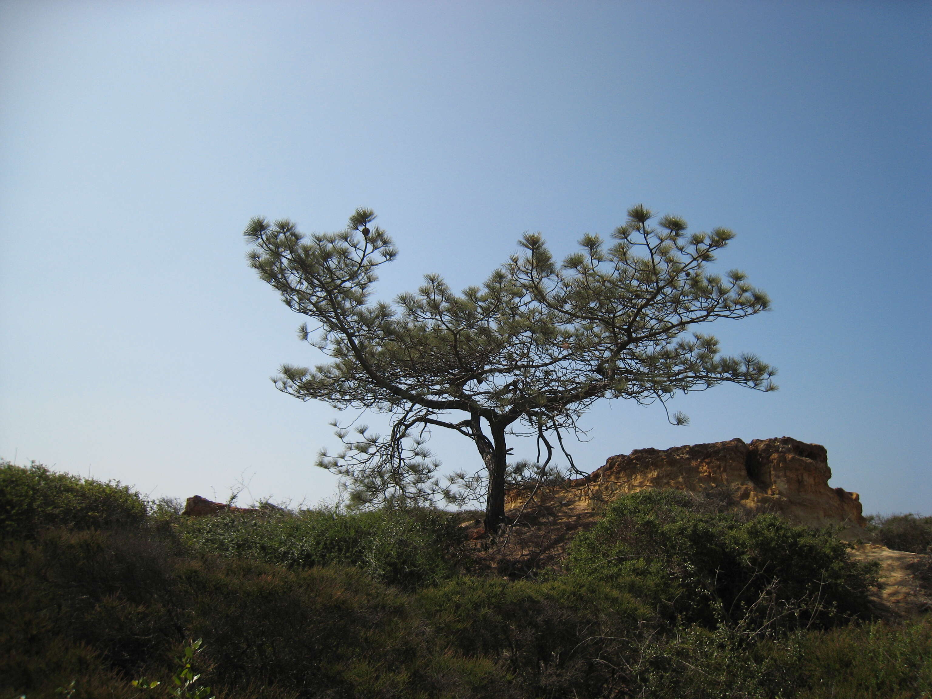
[[[775,513],[809,527],[843,525],[846,538],[865,537],[857,493],[829,487],[829,459],[822,445],[791,437],[740,439],[672,449],[636,449],[611,457],[585,478],[545,497],[588,504],[644,488],[706,491],[728,488],[748,510]],[[510,493],[516,503],[519,492]]]

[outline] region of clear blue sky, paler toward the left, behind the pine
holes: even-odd
[[[867,513],[932,514],[930,37],[906,0],[0,2],[0,456],[332,498],[335,411],[269,381],[316,358],[245,262],[251,216],[375,209],[391,298],[643,202],[737,233],[720,267],[774,309],[706,329],[781,390],[678,398],[689,427],[605,402],[580,465],[788,435]]]

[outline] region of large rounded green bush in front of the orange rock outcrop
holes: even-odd
[[[750,629],[824,626],[870,613],[873,569],[828,530],[775,515],[695,512],[678,490],[615,500],[573,541],[568,567],[613,582],[681,622]]]

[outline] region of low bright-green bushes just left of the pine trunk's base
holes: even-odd
[[[456,518],[433,509],[238,513],[187,519],[178,530],[199,551],[289,568],[345,564],[406,588],[449,577],[462,542]]]

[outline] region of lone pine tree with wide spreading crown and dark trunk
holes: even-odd
[[[654,223],[638,205],[611,240],[586,234],[562,263],[540,234],[525,234],[481,286],[458,295],[428,274],[389,303],[374,300],[373,286],[397,250],[375,218],[357,209],[346,229],[310,236],[288,220],[254,218],[245,230],[250,265],[311,320],[299,337],[329,358],[312,369],[282,365],[279,390],[390,416],[384,436],[337,425],[344,448],[318,459],[356,502],[456,501],[481,484],[494,531],[505,522],[508,436],[538,440],[545,458],[511,473],[540,477],[553,445],[598,399],[665,403],[722,382],[776,389],[773,367],[753,354],[722,356],[714,336],[693,328],[770,304],[743,272],[707,270],[733,238],[726,228],[687,234],[681,218]],[[441,482],[424,445],[439,428],[473,441],[483,462],[475,475]]]

